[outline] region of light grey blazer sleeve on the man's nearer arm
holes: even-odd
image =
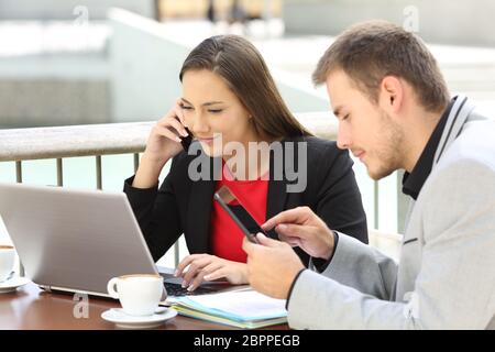
[[[474,182],[473,182],[474,180]],[[459,163],[432,182],[424,194],[425,243],[415,289],[408,301],[343,285],[330,275],[304,271],[294,283],[288,322],[296,329],[485,329],[495,314],[495,177],[493,169]],[[455,191],[452,191],[454,189]],[[440,210],[440,211],[439,211]],[[342,241],[343,240],[343,241]],[[339,238],[339,248],[349,238]],[[371,277],[385,275],[372,249],[351,240],[336,251],[346,275],[374,266]],[[344,252],[341,252],[344,251]],[[345,252],[346,251],[346,252]],[[354,255],[351,251],[354,251]],[[339,254],[339,252],[341,252]],[[359,254],[361,253],[361,254]],[[361,257],[361,260],[360,260]],[[331,263],[328,271],[336,263]],[[407,270],[407,268],[404,268]],[[373,274],[374,273],[374,274]],[[327,273],[328,274],[328,273]],[[386,282],[386,279],[385,279]],[[402,299],[402,297],[399,297]]]

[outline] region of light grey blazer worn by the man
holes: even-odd
[[[409,208],[397,265],[339,233],[330,265],[294,284],[295,329],[495,329],[495,121],[452,107]]]

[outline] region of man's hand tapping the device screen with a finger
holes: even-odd
[[[292,246],[299,246],[312,257],[329,260],[333,253],[333,232],[309,207],[286,210],[262,226],[270,231],[275,228],[278,238]]]

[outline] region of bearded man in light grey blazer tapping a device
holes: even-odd
[[[251,285],[286,298],[296,329],[495,329],[495,122],[450,99],[422,42],[385,22],[344,32],[314,80],[327,85],[339,147],[374,179],[406,170],[400,262],[296,208],[263,226],[285,242],[244,241]],[[318,253],[314,271],[290,245]]]

